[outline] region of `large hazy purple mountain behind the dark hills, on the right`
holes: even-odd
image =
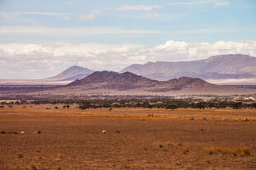
[[[182,76],[209,79],[249,79],[256,77],[256,57],[249,55],[218,55],[190,62],[147,62],[133,64],[121,72],[156,80],[169,80]]]

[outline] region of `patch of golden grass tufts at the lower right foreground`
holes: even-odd
[[[206,154],[231,154],[233,156],[249,156],[252,155],[252,150],[249,147],[244,146],[241,148],[223,148],[223,147],[216,147],[216,148],[205,148],[204,151]]]

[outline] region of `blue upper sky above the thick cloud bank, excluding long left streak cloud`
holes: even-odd
[[[17,33],[2,34],[1,43],[67,40],[83,43],[157,45],[168,39],[207,41],[256,39],[254,0],[196,1],[39,1],[1,0],[2,26]],[[90,17],[91,16],[91,17]],[[55,28],[119,28],[124,34],[21,34],[19,26]],[[23,30],[26,28],[23,27]],[[132,34],[131,30],[148,32]],[[131,33],[130,33],[131,32]]]

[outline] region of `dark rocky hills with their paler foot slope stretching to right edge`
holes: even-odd
[[[180,94],[254,94],[256,90],[213,85],[198,78],[151,80],[134,73],[95,71],[68,85],[45,91],[59,95],[180,95]]]

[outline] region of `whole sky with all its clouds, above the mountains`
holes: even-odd
[[[0,79],[256,57],[255,0],[0,0]]]

